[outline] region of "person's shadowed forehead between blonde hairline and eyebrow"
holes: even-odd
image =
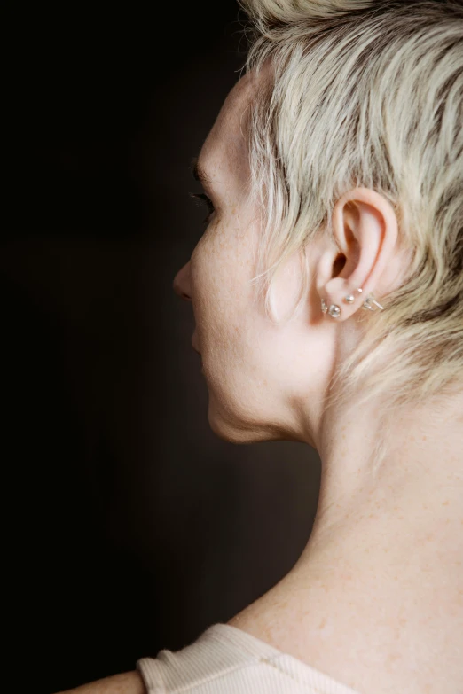
[[[214,126],[203,144],[199,165],[211,183],[222,175],[245,174],[247,165],[247,128],[255,76],[246,74],[226,97]]]

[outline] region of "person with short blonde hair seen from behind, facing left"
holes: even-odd
[[[317,516],[229,622],[75,691],[461,694],[463,7],[242,4],[174,287],[212,430],[315,448]]]

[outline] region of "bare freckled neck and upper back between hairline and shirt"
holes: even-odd
[[[379,466],[372,413],[327,423],[335,435],[318,448],[309,542],[231,623],[354,690],[415,694],[432,680],[430,692],[453,694],[463,676],[461,396],[409,411]]]

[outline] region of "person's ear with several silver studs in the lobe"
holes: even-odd
[[[398,262],[396,213],[380,193],[356,188],[336,203],[332,229],[335,246],[320,257],[317,289],[327,307],[341,309],[334,317],[345,320],[373,292],[378,300],[390,291],[389,280]]]

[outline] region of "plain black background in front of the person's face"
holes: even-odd
[[[35,694],[231,619],[294,565],[319,486],[309,447],[210,431],[172,291],[206,214],[190,161],[245,58],[238,5],[79,7],[5,28],[4,612]]]

